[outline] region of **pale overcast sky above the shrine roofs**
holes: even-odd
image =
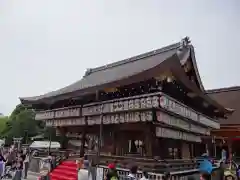
[[[0,0],[0,112],[189,36],[205,89],[240,85],[239,0]]]

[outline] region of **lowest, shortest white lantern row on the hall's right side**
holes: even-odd
[[[194,134],[173,130],[170,128],[156,127],[156,136],[170,139],[179,139],[192,142],[201,142],[201,138]]]

